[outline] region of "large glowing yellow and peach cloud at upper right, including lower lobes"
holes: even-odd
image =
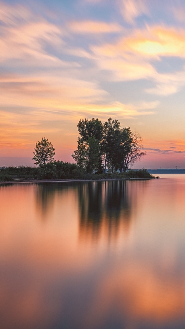
[[[148,93],[170,95],[185,85],[185,69],[172,73],[158,73],[151,60],[162,56],[185,58],[185,30],[164,26],[136,30],[131,36],[115,43],[91,46],[99,69],[111,71],[111,81],[148,79],[155,87]]]

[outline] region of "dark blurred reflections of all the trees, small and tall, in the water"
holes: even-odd
[[[73,191],[79,201],[80,239],[97,241],[103,230],[107,240],[116,240],[120,227],[125,235],[129,233],[132,213],[137,209],[137,189],[141,189],[141,182],[132,183],[120,180],[38,184],[37,212],[43,221],[49,219],[56,196],[62,200],[66,192]],[[147,181],[142,184],[146,185]]]

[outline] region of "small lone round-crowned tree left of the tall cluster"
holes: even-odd
[[[35,151],[33,152],[35,163],[43,167],[45,163],[52,162],[55,156],[55,149],[51,142],[45,137],[36,143]]]

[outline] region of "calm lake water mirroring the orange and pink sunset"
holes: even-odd
[[[184,329],[185,177],[161,177],[0,185],[0,328]]]

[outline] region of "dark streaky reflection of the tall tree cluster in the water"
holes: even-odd
[[[136,195],[129,181],[88,182],[78,187],[80,237],[97,240],[102,231],[116,239],[120,226],[129,232]],[[133,182],[132,182],[133,183]]]

